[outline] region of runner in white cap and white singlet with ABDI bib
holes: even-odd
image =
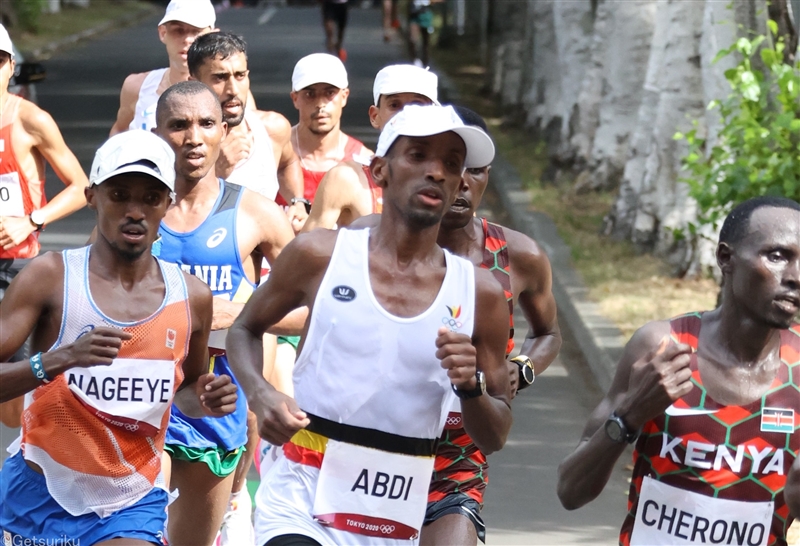
[[[411,544],[454,396],[476,443],[502,448],[508,307],[490,273],[436,244],[464,167],[493,156],[452,108],[404,109],[371,164],[380,225],[299,236],[231,327],[259,431],[283,445],[256,495],[258,544]],[[303,305],[290,398],[261,377],[260,333]]]

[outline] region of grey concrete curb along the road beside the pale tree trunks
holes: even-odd
[[[431,69],[439,76],[441,100],[458,101],[459,92],[450,77],[433,65]],[[523,187],[519,173],[500,155],[492,163],[490,184],[511,218],[509,227],[535,239],[547,252],[559,322],[572,333],[600,389],[607,391],[625,347],[622,332],[589,300],[589,290],[572,266],[572,251],[558,234],[555,223],[546,214],[533,210],[530,192]]]

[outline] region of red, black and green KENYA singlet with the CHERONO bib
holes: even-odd
[[[672,339],[696,351],[701,315],[670,324]],[[781,332],[780,356],[772,387],[744,406],[712,400],[692,356],[694,388],[646,423],[636,442],[621,545],[634,533],[634,542],[786,544],[793,518],[783,488],[800,449],[800,326]]]

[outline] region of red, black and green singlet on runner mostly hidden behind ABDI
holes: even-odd
[[[480,267],[492,272],[508,300],[510,315],[506,355],[514,349],[514,299],[511,293],[511,262],[503,228],[481,218],[483,225],[483,261]],[[451,411],[436,448],[433,478],[428,502],[436,502],[453,493],[463,493],[483,504],[483,492],[489,483],[486,456],[464,430],[459,412]]]

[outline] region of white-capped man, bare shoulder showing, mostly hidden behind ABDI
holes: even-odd
[[[407,104],[436,103],[437,85],[436,74],[412,65],[383,68],[375,76],[375,104],[369,107],[370,123],[383,130]],[[304,232],[318,227],[347,226],[361,216],[381,212],[383,199],[365,165],[368,163],[369,158],[344,161],[321,179]]]

